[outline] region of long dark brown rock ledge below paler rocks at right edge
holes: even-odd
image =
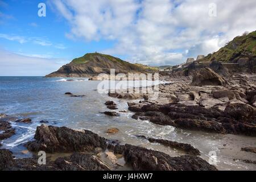
[[[137,112],[133,118],[146,119],[158,125],[256,136],[255,110],[254,107],[246,104],[229,104],[224,111],[216,107],[205,108],[182,104],[136,105],[129,106],[129,109]]]

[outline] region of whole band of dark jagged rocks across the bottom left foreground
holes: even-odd
[[[163,152],[148,150],[130,144],[119,145],[116,141],[99,137],[88,130],[76,131],[67,127],[41,125],[36,129],[35,140],[25,146],[30,151],[72,152],[70,156],[46,160],[40,165],[37,158],[14,159],[11,151],[0,149],[0,170],[113,170],[120,166],[115,154],[120,154],[134,170],[213,170],[216,167],[192,155],[171,157]],[[106,149],[108,148],[108,151]],[[97,151],[101,152],[97,152]],[[105,160],[99,156],[105,154]],[[110,163],[106,162],[110,160]]]

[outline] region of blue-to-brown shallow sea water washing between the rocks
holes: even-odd
[[[68,81],[72,79],[72,81]],[[0,77],[0,113],[10,117],[31,118],[32,124],[14,123],[16,134],[4,140],[2,148],[9,148],[17,158],[31,156],[22,154],[26,150],[23,144],[32,140],[36,126],[41,120],[48,125],[67,126],[72,129],[87,129],[108,139],[118,139],[122,144],[129,143],[153,150],[163,151],[171,156],[184,153],[161,144],[149,143],[134,135],[145,135],[190,143],[201,152],[201,158],[209,160],[209,152],[217,155],[215,166],[222,170],[255,170],[255,164],[248,164],[233,159],[256,160],[256,155],[240,151],[241,147],[255,146],[256,137],[241,135],[209,134],[200,131],[181,130],[172,126],[160,126],[148,121],[131,119],[131,113],[119,113],[119,117],[108,117],[100,112],[109,110],[105,101],[113,100],[119,110],[127,110],[127,100],[111,98],[106,93],[98,93],[100,81],[88,81],[87,78],[44,78],[44,77]],[[138,84],[137,86],[139,86]],[[69,97],[71,92],[85,97]],[[15,119],[13,119],[15,120]],[[117,134],[106,134],[106,130],[117,127]]]

